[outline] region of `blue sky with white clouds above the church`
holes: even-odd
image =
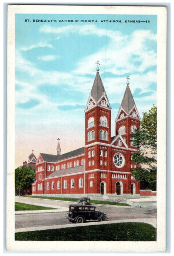
[[[112,107],[112,136],[127,76],[141,117],[156,104],[156,33],[156,15],[16,14],[16,166],[32,149],[36,157],[56,154],[57,138],[62,153],[84,146],[84,108],[97,60]]]

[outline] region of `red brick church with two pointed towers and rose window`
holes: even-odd
[[[129,77],[111,137],[111,106],[99,68],[85,113],[85,145],[61,154],[39,153],[32,195],[91,198],[103,195],[139,195],[140,184],[132,175],[132,133],[140,127],[140,116],[129,88]]]

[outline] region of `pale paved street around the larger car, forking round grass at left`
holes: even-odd
[[[15,212],[15,231],[17,232],[76,225],[70,223],[68,219],[65,218],[68,212],[69,202],[26,197],[15,197],[15,201],[56,208],[55,210]],[[107,223],[138,221],[147,222],[154,226],[156,225],[156,207],[132,208],[101,204],[96,206],[98,210],[108,215],[109,219]],[[83,223],[83,225],[92,225],[94,223],[96,225],[101,222],[87,221]],[[82,223],[80,225],[82,225]]]

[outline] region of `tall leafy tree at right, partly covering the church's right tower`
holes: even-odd
[[[145,181],[147,189],[156,190],[157,107],[143,113],[140,129],[132,134],[133,145],[139,150],[132,161],[139,167],[132,170],[137,181]]]

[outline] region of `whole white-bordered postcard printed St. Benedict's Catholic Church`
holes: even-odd
[[[166,16],[8,5],[7,251],[165,251]]]

